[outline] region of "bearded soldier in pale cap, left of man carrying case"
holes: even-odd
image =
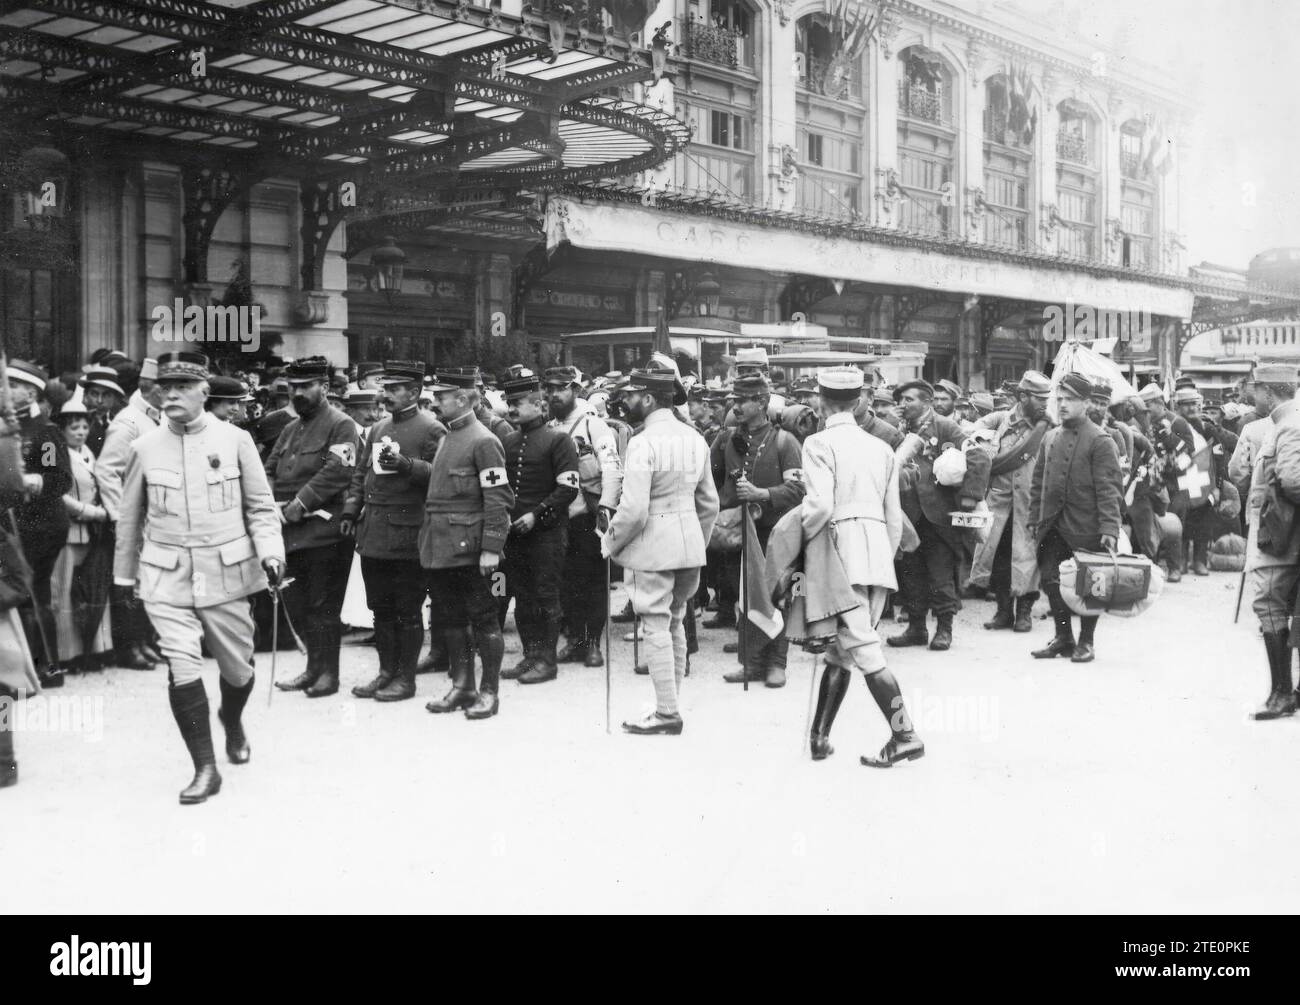
[[[993,430],[988,507],[993,527],[975,549],[970,582],[997,594],[997,614],[985,621],[989,631],[1034,629],[1034,602],[1039,598],[1039,563],[1030,533],[1030,488],[1039,445],[1050,428],[1048,394],[1052,381],[1037,371],[1020,378],[1019,403],[1013,412],[994,412],[984,420]],[[1014,607],[1013,607],[1014,602]]]

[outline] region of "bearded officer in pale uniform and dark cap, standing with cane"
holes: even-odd
[[[628,413],[644,428],[628,442],[619,510],[601,550],[630,579],[628,593],[645,629],[655,709],[623,728],[676,736],[682,728],[677,692],[686,670],[682,619],[718,519],[718,490],[703,437],[673,415],[686,400],[676,374],[633,371],[628,395]]]

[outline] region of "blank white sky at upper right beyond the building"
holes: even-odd
[[[1050,4],[1022,0],[1022,7]],[[1183,152],[1188,263],[1244,268],[1264,248],[1300,246],[1300,3],[1089,0],[1078,7],[1082,29],[1104,42],[1124,33],[1138,59],[1184,81],[1196,103],[1193,147]]]

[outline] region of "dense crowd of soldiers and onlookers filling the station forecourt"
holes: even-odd
[[[1041,593],[1053,633],[1032,657],[1091,662],[1098,618],[1071,608],[1062,562],[1132,553],[1166,582],[1205,576],[1212,545],[1253,534],[1262,510],[1283,540],[1266,558],[1249,545],[1273,685],[1257,718],[1296,710],[1300,528],[1274,527],[1300,498],[1294,369],[1260,367],[1213,403],[1188,378],[1134,394],[1078,372],[970,393],[855,368],[786,381],[760,348],[707,381],[658,354],[589,377],[324,358],[218,373],[198,352],[100,350],[62,377],[13,360],[6,384],[22,458],[0,490],[0,631],[30,666],[6,655],[0,688],[165,667],[195,768],[186,803],[221,787],[204,657],[226,755],[246,763],[255,650],[300,638],[303,672],[276,686],[337,694],[350,584],[378,657],[359,699],[408,701],[417,675],[442,672],[428,711],[490,719],[502,679],[604,666],[612,621],[655,697],[623,728],[676,735],[698,615],[734,633],[731,683],[784,686],[792,641],[824,654],[814,759],[859,670],[890,729],[862,762],[889,767],[924,753],[890,647],[948,651],[971,599],[994,605],[984,629],[1030,633]],[[792,592],[792,572],[809,588]],[[503,666],[511,607],[523,653]],[[16,780],[0,729],[0,785]]]

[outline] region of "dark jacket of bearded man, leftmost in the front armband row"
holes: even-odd
[[[356,423],[328,403],[285,426],[266,458],[266,477],[276,502],[298,499],[307,516],[285,524],[285,550],[333,545],[339,540],[338,520],[356,471]],[[329,512],[329,520],[311,516]]]

